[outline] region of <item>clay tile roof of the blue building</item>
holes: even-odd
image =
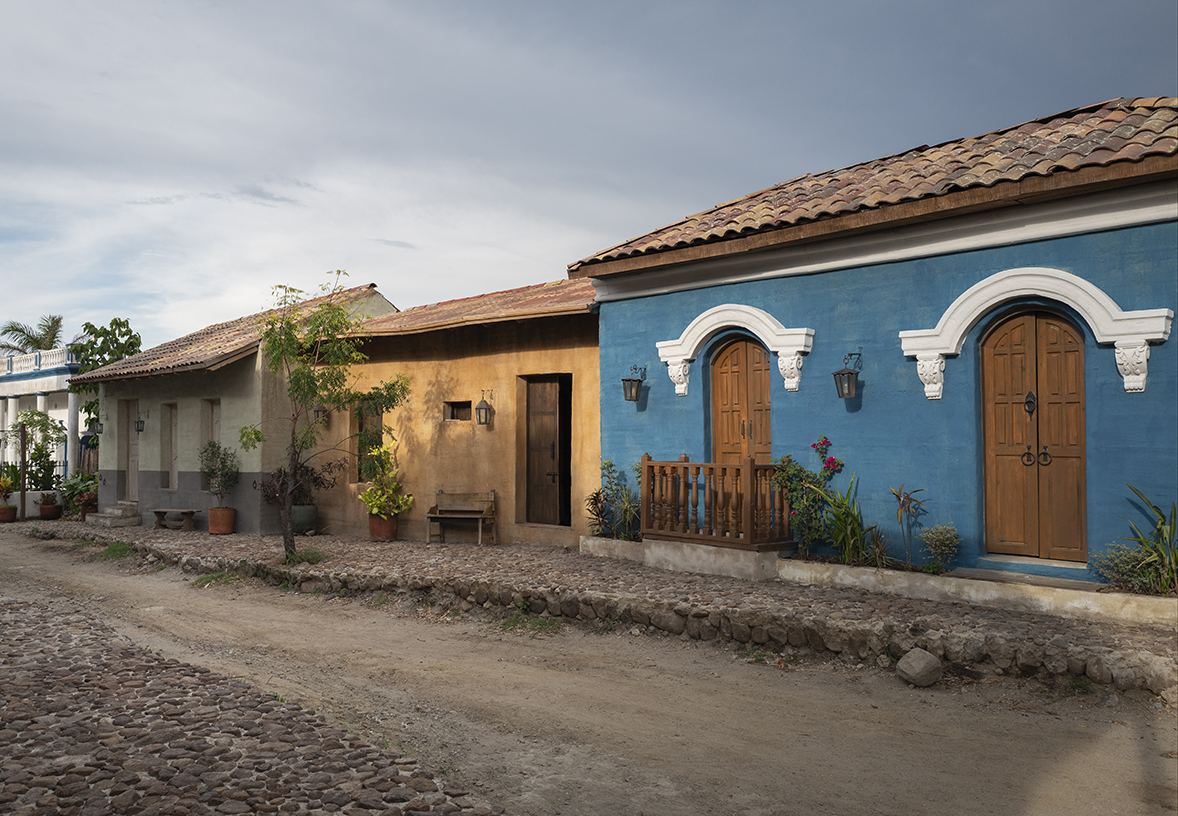
[[[1173,97],[1113,99],[971,139],[921,145],[842,170],[802,175],[589,256],[570,264],[569,271],[1031,175],[1174,157],[1176,108],[1178,98]]]

